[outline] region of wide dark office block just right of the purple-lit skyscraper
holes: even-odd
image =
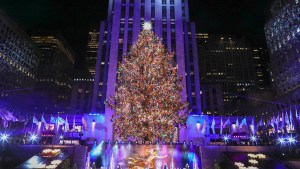
[[[198,33],[197,40],[201,83],[220,84],[223,102],[230,108],[225,113],[233,113],[238,95],[256,87],[250,45],[229,35]]]

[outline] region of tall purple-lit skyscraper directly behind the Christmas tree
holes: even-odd
[[[145,21],[169,51],[175,51],[178,74],[183,76],[182,100],[192,113],[201,113],[195,24],[189,21],[188,0],[110,0],[107,21],[101,22],[92,113],[105,113],[106,139],[113,139],[113,110],[104,101],[115,94],[117,62],[137,40]]]

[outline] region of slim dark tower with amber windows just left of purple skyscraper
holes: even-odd
[[[88,44],[86,50],[86,61],[90,74],[94,77],[96,73],[96,61],[98,52],[99,31],[93,29],[89,31]]]

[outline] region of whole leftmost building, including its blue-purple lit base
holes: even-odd
[[[34,110],[29,96],[39,59],[40,52],[30,37],[0,11],[0,106],[15,113]]]

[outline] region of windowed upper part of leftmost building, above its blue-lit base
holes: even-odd
[[[0,98],[9,95],[5,91],[33,88],[38,64],[30,37],[0,11]]]

